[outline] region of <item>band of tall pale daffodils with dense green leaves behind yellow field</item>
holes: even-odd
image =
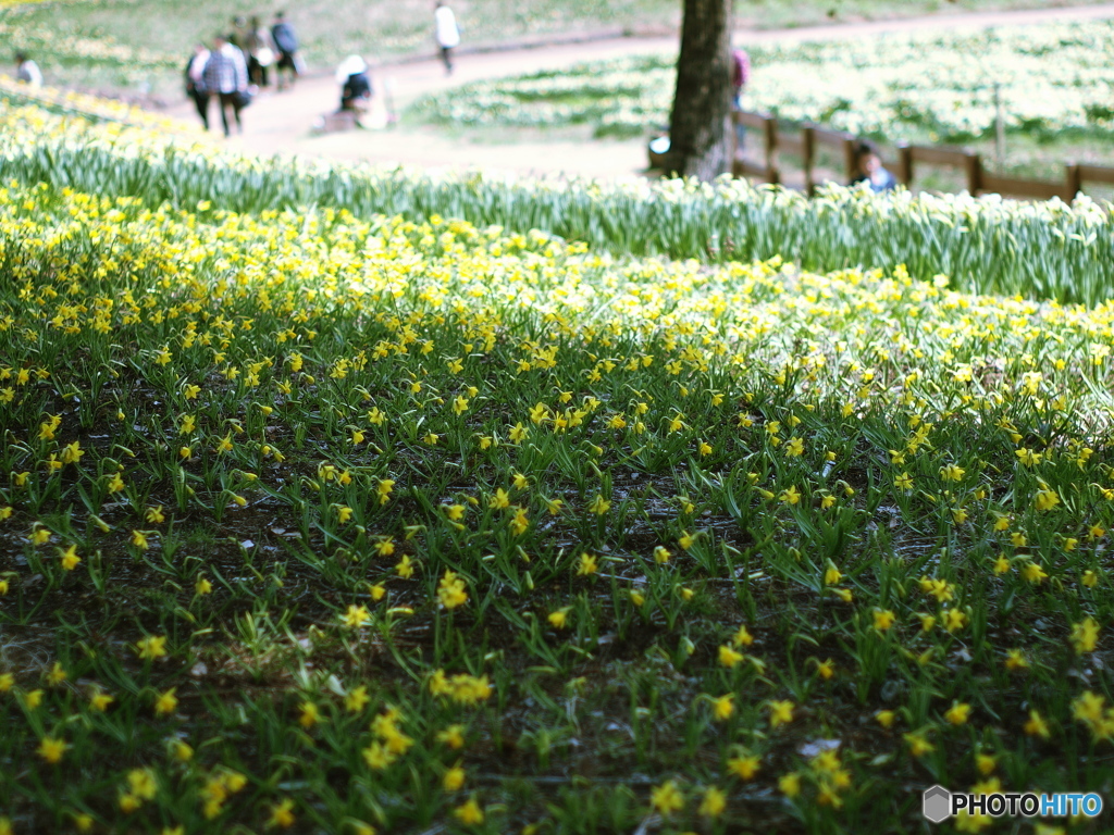
[[[38,108],[0,116],[7,177],[148,207],[214,202],[261,214],[300,206],[359,217],[457,217],[517,233],[543,229],[614,255],[702,262],[780,256],[808,269],[859,265],[938,274],[979,292],[1064,302],[1111,297],[1114,236],[1107,207],[1088,199],[1022,204],[996,197],[872,196],[833,187],[821,199],[742,180],[638,184],[514,180],[222,153],[188,137],[65,119]]]

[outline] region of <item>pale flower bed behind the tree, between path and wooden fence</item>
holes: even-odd
[[[1009,131],[1106,136],[1114,125],[1108,21],[891,33],[749,51],[754,71],[747,109],[889,141],[993,135],[995,85]],[[642,136],[668,122],[674,63],[667,57],[626,58],[480,81],[431,96],[418,108],[453,125],[590,125],[596,136]]]

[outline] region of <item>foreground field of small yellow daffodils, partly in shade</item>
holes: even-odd
[[[10,179],[0,833],[1110,797],[1112,325],[900,266]]]

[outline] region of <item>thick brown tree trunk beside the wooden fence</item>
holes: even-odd
[[[668,170],[710,180],[731,169],[731,0],[684,0]]]

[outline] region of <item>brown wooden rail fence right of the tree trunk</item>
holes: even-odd
[[[813,125],[782,129],[778,119],[765,114],[735,111],[732,118],[736,125],[750,129],[749,136],[755,132],[762,141],[762,160],[754,163],[740,159],[737,147],[734,148],[734,165],[732,174],[736,177],[752,177],[766,183],[780,184],[782,169],[780,154],[792,154],[802,160],[804,169],[804,189],[811,196],[819,185],[815,179],[815,157],[818,147],[832,148],[842,158],[844,181],[850,183],[858,175],[856,148],[860,139],[851,134],[828,130]],[[732,131],[734,134],[734,131]],[[1022,179],[1018,177],[1000,177],[990,174],[983,167],[983,159],[970,150],[955,148],[936,148],[924,145],[899,145],[898,158],[883,161],[898,183],[911,186],[916,164],[944,166],[955,168],[964,174],[967,190],[973,194],[997,193],[1009,197],[1029,197],[1047,200],[1059,197],[1072,200],[1083,190],[1084,183],[1104,183],[1114,185],[1114,168],[1094,165],[1065,165],[1063,181],[1038,179]]]

